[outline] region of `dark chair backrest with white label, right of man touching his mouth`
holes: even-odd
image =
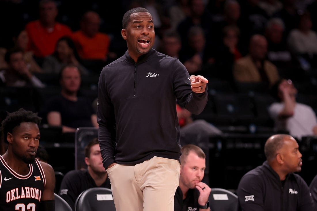
[[[211,188],[209,205],[213,211],[237,211],[238,196],[226,189]]]

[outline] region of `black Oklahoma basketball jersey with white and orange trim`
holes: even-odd
[[[36,211],[45,187],[40,162],[29,164],[27,175],[17,174],[0,156],[0,211]]]

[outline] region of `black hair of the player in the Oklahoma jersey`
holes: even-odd
[[[42,118],[37,116],[37,113],[32,111],[26,111],[20,108],[18,111],[9,113],[1,123],[0,131],[3,131],[4,140],[6,140],[7,134],[12,133],[12,130],[19,126],[22,122],[34,122],[37,125],[41,124]]]

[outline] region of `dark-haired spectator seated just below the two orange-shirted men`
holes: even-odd
[[[81,70],[84,75],[89,71],[81,64],[74,42],[68,36],[63,36],[56,42],[55,51],[52,55],[43,59],[43,73],[58,74],[65,65],[73,64]]]

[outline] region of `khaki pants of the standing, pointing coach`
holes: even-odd
[[[173,211],[179,184],[178,160],[156,157],[107,169],[117,211]]]

